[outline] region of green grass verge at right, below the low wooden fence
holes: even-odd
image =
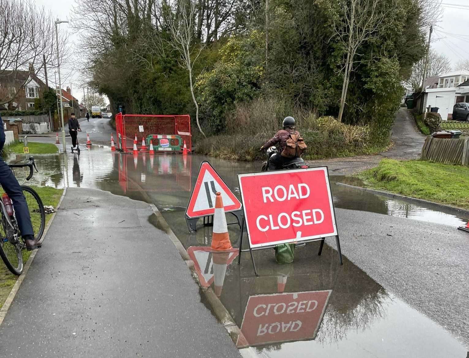
[[[383,159],[356,175],[366,187],[469,209],[469,167]]]

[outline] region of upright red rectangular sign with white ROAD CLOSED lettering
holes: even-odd
[[[337,235],[327,167],[238,174],[251,247]]]

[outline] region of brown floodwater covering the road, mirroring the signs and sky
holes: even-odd
[[[200,284],[213,287],[241,328],[244,337],[238,339],[237,346],[253,347],[260,357],[467,356],[464,345],[420,313],[418,307],[386,291],[346,257],[344,265],[339,266],[337,252],[327,245],[320,259],[318,243],[298,248],[295,262],[283,266],[275,262],[273,250],[256,251],[258,277],[249,254],[242,254],[238,265],[237,250],[224,255],[207,250],[212,228],[203,227],[200,220],[198,231],[190,234],[184,220],[190,191],[204,159],[237,196],[237,174],[256,172],[260,166],[200,156],[133,157],[92,147],[82,150],[80,156],[37,156],[39,173],[31,184],[98,188],[157,205],[194,261]],[[24,178],[27,173],[17,171],[16,175]],[[334,185],[344,180],[359,184],[342,176],[331,177],[336,208],[452,227],[465,223],[451,213]],[[228,222],[232,217],[227,216]],[[233,247],[238,247],[238,226],[229,225],[229,231]]]

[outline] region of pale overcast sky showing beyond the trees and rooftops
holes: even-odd
[[[36,3],[52,11],[54,17],[65,20],[70,17],[75,0],[61,0],[60,5],[58,1],[51,0],[36,0]],[[442,0],[442,11],[442,21],[434,28],[431,46],[437,52],[446,54],[452,65],[459,60],[469,60],[469,23],[466,21],[469,18],[469,0]],[[68,29],[66,23],[60,26]],[[83,54],[75,52],[75,56],[83,56]],[[63,69],[62,72],[64,72],[64,79],[67,80],[67,82],[62,82],[62,87],[65,88],[71,82],[74,95],[77,94],[75,97],[81,100],[83,89],[79,87],[80,74],[72,69]],[[50,75],[49,78],[51,78]],[[78,91],[81,95],[78,95]]]

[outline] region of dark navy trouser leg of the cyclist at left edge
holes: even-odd
[[[13,201],[13,208],[15,209],[16,220],[18,227],[21,231],[21,236],[34,235],[32,230],[31,218],[29,215],[28,204],[24,199],[23,190],[16,180],[11,168],[0,157],[0,184],[8,194],[11,201]]]

